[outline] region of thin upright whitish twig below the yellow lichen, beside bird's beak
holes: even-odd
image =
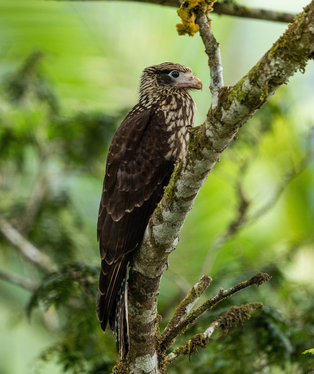
[[[220,45],[212,33],[211,26],[205,13],[200,14],[196,23],[199,25],[199,33],[205,45],[208,56],[208,65],[211,74],[210,90],[212,93],[212,108],[218,105],[218,93],[223,88],[223,67],[221,65]]]

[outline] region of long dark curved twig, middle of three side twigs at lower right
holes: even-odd
[[[166,349],[168,349],[172,344],[175,338],[184,331],[189,324],[192,324],[195,322],[195,320],[206,310],[211,309],[214,305],[219,303],[221,300],[224,300],[227,297],[230,297],[234,295],[236,292],[241,291],[241,289],[247,288],[252,286],[253,284],[256,284],[257,286],[261,285],[263,282],[269,281],[271,279],[271,276],[269,276],[266,273],[258,273],[254,275],[252,278],[250,278],[248,281],[241,282],[236,286],[233,286],[232,288],[227,289],[226,291],[224,289],[220,289],[219,293],[212,297],[211,299],[205,301],[200,307],[198,307],[196,310],[191,312],[187,318],[185,318],[182,322],[180,322],[176,327],[173,327],[172,330],[169,332],[169,334],[166,336],[166,338],[161,338],[161,351],[165,352]]]

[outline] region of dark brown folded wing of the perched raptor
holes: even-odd
[[[115,327],[128,254],[142,239],[169,183],[173,160],[164,159],[167,138],[163,112],[152,109],[131,111],[112,139],[97,225],[102,258],[97,316],[103,330],[108,320]]]

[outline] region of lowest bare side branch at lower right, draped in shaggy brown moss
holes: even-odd
[[[253,310],[262,308],[263,304],[261,303],[251,303],[242,305],[240,307],[230,307],[226,313],[223,313],[220,317],[215,318],[202,334],[193,335],[188,341],[176,348],[173,352],[169,353],[169,355],[166,356],[166,362],[170,364],[178,356],[191,356],[192,353],[197,355],[197,349],[199,347],[206,347],[206,344],[209,343],[209,340],[211,340],[211,335],[215,330],[222,328],[224,334],[227,334],[232,324],[235,324],[235,326],[239,322],[243,324],[243,322],[250,319],[251,312],[253,312]]]

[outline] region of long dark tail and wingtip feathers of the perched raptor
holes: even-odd
[[[129,353],[129,322],[127,311],[127,264],[129,256],[119,258],[116,263],[108,265],[102,260],[102,270],[99,276],[97,318],[105,331],[107,324],[116,333],[117,351],[121,357]],[[120,323],[119,323],[120,322]],[[120,344],[119,344],[120,329]]]

